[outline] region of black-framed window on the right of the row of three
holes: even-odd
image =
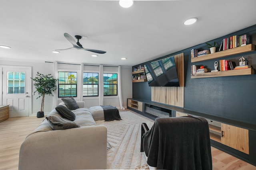
[[[103,74],[104,96],[117,96],[117,74]]]

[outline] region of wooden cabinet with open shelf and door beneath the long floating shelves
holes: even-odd
[[[249,154],[248,129],[208,120],[210,139]]]

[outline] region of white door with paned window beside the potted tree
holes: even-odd
[[[29,116],[32,111],[31,67],[2,66],[2,105],[9,117]]]

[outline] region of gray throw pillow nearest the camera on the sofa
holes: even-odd
[[[58,116],[53,116],[53,115],[47,116],[46,119],[50,124],[50,127],[52,128],[52,130],[61,130],[61,129],[70,129],[74,127],[80,127],[75,122],[69,121],[67,119],[64,119]]]

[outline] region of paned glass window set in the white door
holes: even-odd
[[[7,72],[7,94],[25,94],[25,72]]]

